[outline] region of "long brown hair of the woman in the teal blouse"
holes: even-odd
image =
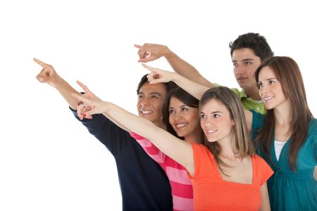
[[[296,170],[296,160],[299,148],[304,144],[308,132],[309,121],[313,117],[306,100],[304,82],[297,63],[287,56],[273,56],[263,60],[263,63],[254,73],[256,83],[259,82],[259,73],[262,68],[268,67],[275,73],[281,84],[283,94],[290,100],[290,152],[289,162],[292,170]],[[258,84],[259,88],[259,84]],[[271,160],[271,144],[274,137],[275,115],[274,109],[266,110],[263,127],[257,132],[254,139],[256,146]]]

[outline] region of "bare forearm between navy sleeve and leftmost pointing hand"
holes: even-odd
[[[80,92],[71,87],[70,84],[68,84],[68,82],[66,82],[64,79],[61,79],[61,82],[58,85],[56,85],[55,88],[61,94],[61,96],[63,96],[63,98],[67,101],[70,108],[72,108],[73,110],[77,110],[77,104],[79,101],[73,96],[71,96],[71,94],[75,93],[80,95]]]

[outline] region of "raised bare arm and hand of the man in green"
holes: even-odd
[[[147,63],[163,56],[166,58],[173,70],[179,75],[182,75],[187,79],[191,79],[197,84],[201,84],[209,88],[213,87],[213,84],[203,77],[196,68],[180,58],[173,51],[170,51],[168,46],[160,44],[143,44],[142,46],[139,46],[135,44],[135,47],[139,49],[137,52],[139,55],[138,62]]]

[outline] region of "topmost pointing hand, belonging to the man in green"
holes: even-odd
[[[139,63],[147,63],[151,60],[156,60],[162,56],[166,56],[170,51],[167,46],[163,46],[160,44],[143,44],[143,46],[139,46],[135,44],[135,47],[139,49],[137,54],[139,55]]]

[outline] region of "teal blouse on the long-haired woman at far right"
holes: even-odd
[[[253,113],[252,138],[263,125],[263,115]],[[279,160],[275,155],[274,140],[271,144],[271,160],[262,151],[259,155],[268,162],[275,172],[268,179],[268,195],[271,210],[317,210],[317,181],[313,172],[317,165],[317,120],[309,123],[309,132],[304,145],[299,148],[296,172],[288,161],[290,141],[287,141],[280,152]]]

